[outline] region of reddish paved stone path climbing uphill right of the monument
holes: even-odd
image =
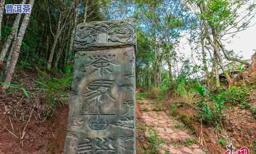
[[[153,106],[146,99],[136,100],[141,108],[142,120],[165,140],[161,153],[170,154],[206,154],[198,144],[197,138],[190,135],[175,119],[171,119],[164,111],[154,112]],[[146,136],[148,132],[146,132]],[[169,152],[166,152],[169,151]]]

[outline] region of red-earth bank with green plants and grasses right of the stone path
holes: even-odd
[[[227,144],[247,146],[256,152],[256,84],[244,81],[212,89],[191,79],[175,84],[140,89],[137,99],[148,98],[155,110],[165,110],[198,136],[197,142],[209,153],[225,151]]]

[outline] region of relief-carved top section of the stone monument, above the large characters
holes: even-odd
[[[76,29],[74,51],[135,46],[135,29],[136,25],[134,20],[101,21],[79,24]]]

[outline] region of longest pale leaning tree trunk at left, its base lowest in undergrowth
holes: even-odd
[[[31,10],[33,8],[34,1],[35,0],[30,0],[29,1],[29,4],[31,5]],[[22,43],[23,37],[25,35],[27,25],[29,24],[30,14],[31,13],[28,13],[28,14],[24,15],[24,19],[22,21],[21,28],[20,28],[17,40],[14,42],[14,49],[13,49],[13,56],[12,56],[12,60],[11,60],[11,65],[10,65],[10,68],[8,69],[8,71],[7,71],[7,75],[6,75],[6,78],[5,78],[5,83],[6,84],[3,86],[3,89],[7,89],[9,87],[9,84],[12,81],[12,75],[14,73],[15,66],[16,66],[16,63],[17,63],[19,55],[20,55],[21,43]]]

